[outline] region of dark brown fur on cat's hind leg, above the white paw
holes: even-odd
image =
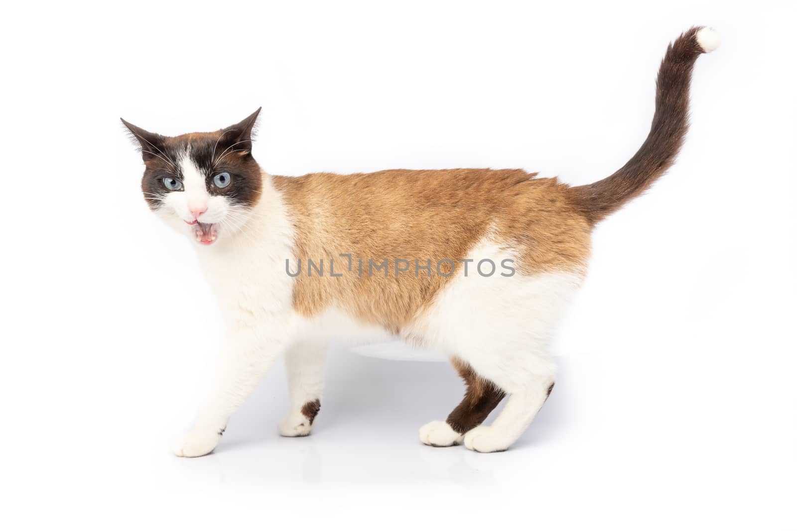
[[[487,416],[496,408],[504,392],[497,388],[493,382],[480,377],[473,368],[454,357],[451,360],[454,369],[457,369],[462,380],[465,381],[465,397],[446,419],[446,423],[457,433],[465,433],[476,428],[485,421]]]

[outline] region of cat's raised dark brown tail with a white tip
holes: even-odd
[[[658,69],[656,112],[645,143],[614,174],[570,189],[575,205],[593,225],[644,192],[673,165],[689,128],[692,68],[697,56],[718,44],[713,29],[694,27],[669,45]]]

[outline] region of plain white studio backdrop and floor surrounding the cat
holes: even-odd
[[[795,529],[787,3],[6,6],[4,526]],[[337,346],[312,437],[277,436],[277,366],[213,455],[171,455],[222,325],[190,243],[147,211],[120,115],[176,135],[262,105],[254,154],[273,174],[583,184],[642,143],[658,62],[693,24],[723,42],[697,61],[689,138],[595,231],[556,390],[515,447],[422,446],[461,396],[453,369]]]

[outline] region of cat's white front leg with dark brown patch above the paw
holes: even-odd
[[[290,406],[278,426],[284,437],[310,435],[312,423],[321,408],[324,388],[324,342],[299,342],[285,352]]]

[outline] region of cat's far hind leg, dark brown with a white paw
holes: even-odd
[[[424,424],[418,431],[421,442],[429,446],[447,447],[461,443],[463,435],[484,422],[504,398],[500,388],[480,377],[465,361],[453,357],[451,364],[465,381],[465,396],[445,421]]]

